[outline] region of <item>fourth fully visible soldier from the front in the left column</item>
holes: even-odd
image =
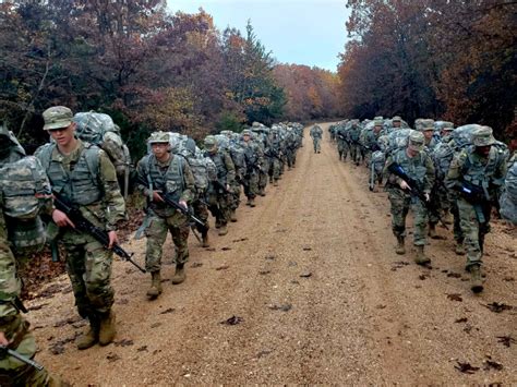
[[[245,174],[242,179],[242,186],[244,188],[244,194],[248,197],[247,205],[250,207],[255,206],[255,197],[258,192],[258,173],[262,165],[262,149],[261,147],[251,140],[251,131],[242,131],[242,147],[244,148],[245,157]]]

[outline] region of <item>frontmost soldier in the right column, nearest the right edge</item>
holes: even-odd
[[[470,289],[483,291],[481,257],[484,235],[490,231],[493,202],[498,197],[506,174],[506,159],[502,149],[492,146],[492,129],[481,126],[472,133],[472,146],[461,150],[450,164],[447,186],[459,192],[457,205],[460,226],[465,233]]]

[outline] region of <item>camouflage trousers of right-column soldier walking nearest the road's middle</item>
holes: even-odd
[[[414,220],[413,244],[416,246],[425,245],[428,211],[423,204],[397,188],[392,186],[387,191],[392,204],[392,230],[395,237],[406,237],[406,217],[411,208]]]

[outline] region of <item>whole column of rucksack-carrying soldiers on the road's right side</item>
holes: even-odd
[[[369,168],[370,190],[387,178],[395,252],[406,254],[406,217],[413,216],[414,262],[428,265],[426,237],[445,239],[436,225],[454,223],[457,255],[467,255],[470,288],[483,290],[481,276],[484,238],[494,206],[516,223],[516,182],[507,169],[516,168],[508,147],[489,126],[418,119],[416,130],[400,117],[345,120],[334,125],[338,158]],[[506,183],[505,183],[506,177]],[[512,180],[513,179],[513,180]],[[504,191],[504,197],[502,193]],[[514,193],[512,193],[514,192]]]

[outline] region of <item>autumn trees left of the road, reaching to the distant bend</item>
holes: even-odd
[[[154,130],[201,138],[333,110],[325,80],[335,76],[306,69],[304,89],[294,89],[294,75],[276,66],[251,24],[221,32],[202,9],[168,14],[163,0],[0,3],[0,120],[28,150],[47,140],[40,113],[52,105],[111,114],[135,156]]]

